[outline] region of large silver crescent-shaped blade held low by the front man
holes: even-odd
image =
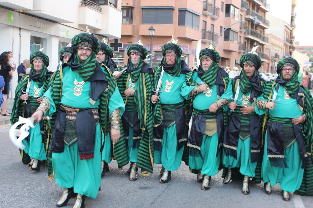
[[[50,116],[41,117],[43,120],[50,120]],[[34,123],[37,122],[36,118],[23,118],[18,117],[18,122],[14,123],[9,131],[9,137],[11,142],[20,149],[24,149],[25,146],[22,143],[22,140],[29,135],[29,128],[34,128]],[[21,128],[17,128],[19,125],[24,124]]]

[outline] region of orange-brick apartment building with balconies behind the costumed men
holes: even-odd
[[[246,32],[252,27],[253,20],[235,24],[228,28],[218,40],[217,38],[229,25],[245,18],[252,18],[252,16],[246,16],[246,13],[248,8],[255,4],[261,7],[256,2],[251,1],[247,4],[244,0],[122,0],[123,18],[120,42],[123,42],[123,47],[115,53],[113,58],[119,64],[126,64],[128,57],[125,49],[138,39],[141,39],[150,51],[148,28],[153,26],[156,29],[152,43],[152,51],[155,51],[152,56],[154,67],[162,60],[161,46],[169,41],[172,35],[178,39],[183,51],[182,59],[190,67],[197,65],[196,46],[200,39],[202,39],[202,48],[208,46],[211,41],[217,43],[216,50],[221,56],[221,66],[239,67],[240,56],[248,52],[246,47],[250,46],[248,46],[250,41],[248,41],[249,36],[246,37]],[[264,13],[269,11],[269,5],[263,0],[261,2],[264,9],[258,18],[263,20]],[[267,27],[263,24],[259,28]],[[249,33],[251,34],[251,31]],[[263,40],[258,38],[255,41]],[[266,40],[263,43],[266,44]],[[263,47],[259,50],[263,50]]]

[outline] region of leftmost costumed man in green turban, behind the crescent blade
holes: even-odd
[[[34,52],[29,57],[31,71],[29,75],[23,75],[15,90],[11,123],[16,123],[18,117],[30,117],[39,104],[42,96],[48,89],[51,71],[49,57],[41,51]],[[27,92],[27,85],[30,84]],[[26,101],[26,102],[25,102]],[[20,150],[23,163],[28,163],[30,170],[39,171],[41,162],[47,159],[49,141],[47,141],[46,121],[41,121],[31,128],[29,136],[23,140],[24,150]],[[30,157],[32,159],[30,159]]]

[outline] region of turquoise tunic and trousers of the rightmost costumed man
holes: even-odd
[[[273,88],[273,94],[274,91],[275,86]],[[265,100],[263,95],[261,95],[258,99]],[[277,106],[275,106],[273,110],[269,110],[269,116],[278,118],[297,118],[302,115],[302,110],[299,108],[297,100],[291,97],[286,99],[283,86],[280,86],[278,89],[276,100],[277,99],[280,99],[280,101],[276,101],[275,104]],[[266,109],[255,108],[255,112],[259,115],[265,114],[266,111]],[[264,183],[270,182],[271,186],[280,183],[280,188],[282,190],[294,192],[300,188],[304,173],[304,169],[301,168],[302,160],[300,158],[297,141],[285,149],[284,157],[288,168],[272,167],[270,165],[267,155],[266,132],[261,173],[263,181]]]

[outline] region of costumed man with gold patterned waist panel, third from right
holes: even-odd
[[[198,172],[202,190],[210,188],[211,176],[218,173],[223,144],[224,123],[232,86],[228,74],[218,67],[219,54],[212,45],[200,51],[201,64],[192,80],[199,87],[192,91],[192,126],[188,138],[189,167]],[[201,84],[206,85],[201,90]]]

